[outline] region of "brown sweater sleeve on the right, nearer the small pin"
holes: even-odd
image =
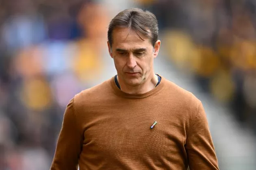
[[[197,110],[190,122],[185,145],[190,170],[219,170],[213,140],[201,102],[197,105]]]

